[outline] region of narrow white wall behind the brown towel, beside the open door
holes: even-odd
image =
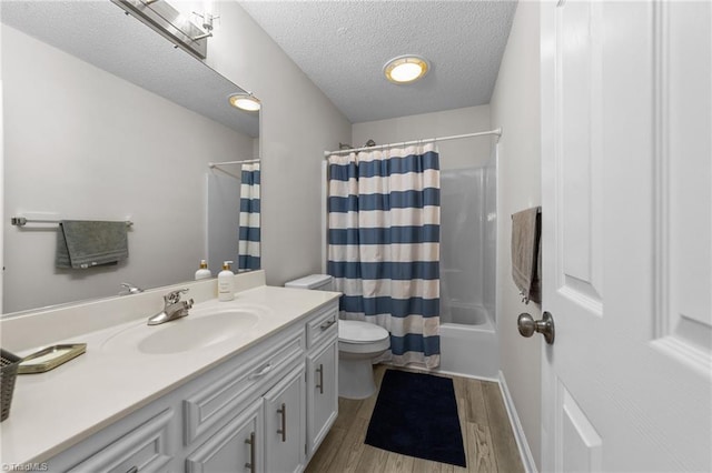
[[[516,329],[521,312],[541,319],[541,308],[521,302],[512,282],[510,253],[510,215],[541,204],[538,18],[538,3],[518,3],[490,107],[493,127],[503,128],[497,163],[500,360],[527,443],[541,467],[542,339],[524,339]]]

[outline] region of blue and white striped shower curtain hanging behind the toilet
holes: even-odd
[[[380,361],[439,365],[435,145],[333,154],[328,168],[328,273],[342,318],[390,332]]]

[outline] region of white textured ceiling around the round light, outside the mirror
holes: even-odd
[[[490,103],[515,1],[238,2],[352,123]],[[384,64],[431,62],[396,85]]]

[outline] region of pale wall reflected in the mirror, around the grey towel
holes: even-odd
[[[3,312],[190,280],[206,258],[207,163],[249,155],[253,139],[10,27],[2,47]],[[57,225],[9,223],[33,212],[129,218],[128,262],[56,270]]]

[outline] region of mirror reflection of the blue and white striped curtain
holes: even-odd
[[[238,270],[259,269],[259,164],[243,164],[240,174]]]

